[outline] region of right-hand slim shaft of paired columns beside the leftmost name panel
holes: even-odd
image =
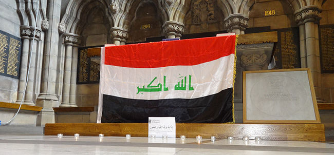
[[[36,68],[36,51],[38,50],[37,43],[40,40],[41,37],[41,30],[36,29],[35,32],[35,40],[33,41],[33,34],[34,34],[34,28],[30,27],[31,35],[30,35],[30,54],[31,54],[31,60],[28,61],[28,65],[30,64],[29,68],[29,76],[28,76],[28,83],[27,83],[27,90],[25,95],[25,104],[28,105],[35,105],[35,99],[34,99],[34,83],[36,81],[35,78],[35,68]],[[30,55],[29,55],[30,59]]]

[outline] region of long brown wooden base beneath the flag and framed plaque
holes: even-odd
[[[125,137],[148,137],[147,123],[58,123],[46,124],[45,135],[80,135]],[[262,137],[263,140],[280,141],[325,141],[323,124],[176,124],[176,137],[185,135],[187,138],[196,138],[201,135],[207,139],[215,135],[217,139],[226,139],[229,136],[241,138]]]

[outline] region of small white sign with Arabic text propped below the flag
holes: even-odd
[[[176,138],[176,125],[174,117],[149,117],[149,137],[155,135],[157,138],[168,136]]]

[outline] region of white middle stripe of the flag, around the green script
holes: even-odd
[[[195,99],[232,88],[233,67],[234,54],[194,66],[127,68],[102,65],[103,74],[100,77],[100,89],[103,94],[128,99]],[[189,75],[191,75],[191,86],[194,90],[189,90]],[[165,80],[164,76],[166,76]],[[187,78],[186,90],[175,90],[175,85],[178,82],[181,83],[182,79],[185,80],[184,77]],[[143,86],[147,88],[151,81],[153,81],[151,86],[161,84],[162,90],[156,92],[138,91]],[[169,90],[164,91],[164,87]]]

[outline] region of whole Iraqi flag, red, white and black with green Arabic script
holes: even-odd
[[[234,122],[236,35],[105,47],[98,123]]]

